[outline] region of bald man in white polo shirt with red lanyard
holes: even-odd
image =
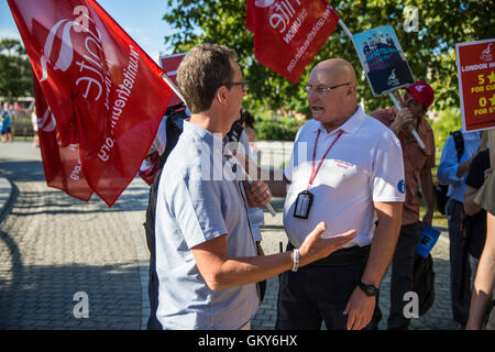
[[[356,103],[355,73],[345,61],[318,64],[306,86],[314,119],[298,132],[284,175],[288,250],[326,221],[323,237],[358,235],[328,257],[280,275],[276,329],[366,328],[391,263],[405,200],[398,140]],[[282,185],[268,183],[274,195]],[[377,221],[377,224],[376,224]]]

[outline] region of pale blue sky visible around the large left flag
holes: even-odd
[[[172,54],[164,36],[173,33],[162,20],[166,0],[97,0],[97,2],[128,32],[128,34],[156,62],[160,55]],[[7,0],[0,0],[0,38],[18,38],[18,28]]]

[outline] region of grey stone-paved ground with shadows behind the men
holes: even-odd
[[[147,193],[135,178],[112,208],[97,196],[85,202],[46,186],[40,151],[30,142],[0,144],[0,329],[144,329],[150,312],[142,226]],[[272,204],[277,216],[265,212],[263,229],[267,254],[287,242],[283,199]],[[411,328],[454,329],[444,231],[432,254],[436,302]],[[273,329],[277,284],[276,277],[268,280],[253,329]],[[387,275],[381,328],[388,287]],[[76,318],[84,311],[77,293],[88,297],[88,318]]]

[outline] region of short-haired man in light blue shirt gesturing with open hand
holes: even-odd
[[[177,84],[191,118],[160,179],[157,318],[164,329],[245,329],[258,307],[255,283],[329,255],[355,231],[321,239],[319,223],[299,249],[256,255],[249,208],[266,205],[271,193],[263,182],[239,180],[223,154],[248,89],[234,52],[195,46]]]

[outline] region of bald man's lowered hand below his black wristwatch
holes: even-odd
[[[358,286],[352,292],[348,306],[343,314],[348,315],[348,330],[361,330],[365,328],[373,318],[376,297],[369,297]]]

